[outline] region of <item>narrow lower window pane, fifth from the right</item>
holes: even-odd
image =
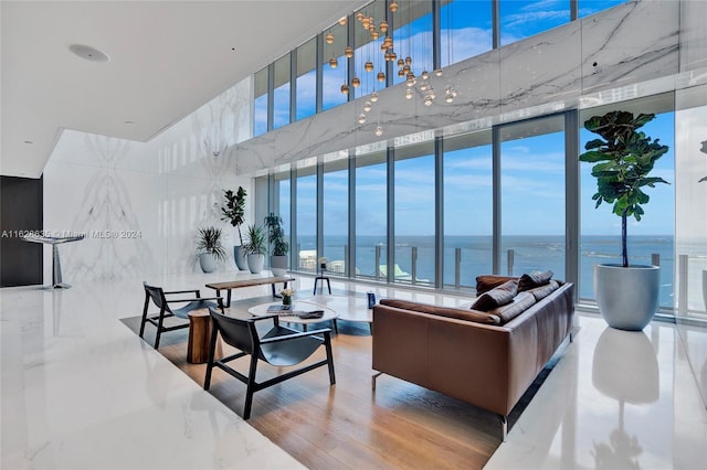
[[[380,279],[388,255],[386,150],[356,156],[356,277]],[[384,280],[384,278],[383,278]]]

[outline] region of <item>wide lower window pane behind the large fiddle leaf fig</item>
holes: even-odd
[[[661,265],[661,307],[672,308],[674,301],[674,221],[675,221],[675,158],[674,158],[674,113],[673,95],[659,95],[647,99],[624,102],[600,108],[584,109],[580,113],[580,150],[584,145],[598,138],[595,133],[583,129],[583,124],[592,116],[603,116],[611,110],[625,110],[634,115],[655,114],[655,119],[643,126],[640,131],[652,138],[659,138],[669,150],[655,164],[651,175],[661,177],[671,184],[656,184],[646,188],[651,197],[644,204],[645,214],[641,222],[630,217],[627,221],[629,263]],[[594,299],[592,282],[593,266],[598,263],[621,264],[621,217],[612,213],[611,206],[601,204],[595,209],[592,195],[597,192],[597,179],[592,177],[593,164],[580,165],[580,206],[581,206],[581,257],[580,257],[580,299]]]

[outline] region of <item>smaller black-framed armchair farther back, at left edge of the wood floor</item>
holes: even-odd
[[[155,335],[155,349],[159,348],[160,335],[167,331],[181,330],[182,328],[189,328],[189,323],[177,323],[167,325],[165,323],[166,318],[178,317],[181,319],[189,319],[189,312],[200,309],[208,309],[209,307],[222,307],[221,297],[201,297],[199,289],[192,290],[172,290],[165,291],[161,287],[148,286],[147,282],[143,282],[145,287],[145,308],[143,309],[143,321],[140,322],[140,338],[145,333],[145,324],[147,322],[157,327],[157,334]],[[190,293],[190,297],[173,298],[176,293],[184,295]],[[169,296],[169,298],[167,297]],[[159,309],[158,313],[148,313],[147,310],[152,303]],[[186,303],[182,307],[173,308],[170,305]]]

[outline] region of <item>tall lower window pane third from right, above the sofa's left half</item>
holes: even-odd
[[[444,139],[445,288],[474,287],[493,270],[492,154],[489,130]]]

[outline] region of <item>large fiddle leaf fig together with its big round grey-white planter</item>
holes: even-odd
[[[613,204],[612,212],[621,217],[622,264],[594,266],[599,310],[610,327],[621,330],[643,330],[658,307],[661,268],[630,265],[626,252],[626,221],[629,217],[641,221],[643,205],[650,200],[642,188],[668,184],[662,178],[648,177],[668,147],[637,130],[654,117],[611,111],[588,119],[584,128],[602,139],[587,142],[587,151],[579,157],[580,161],[595,163],[592,168],[597,178],[597,193],[592,196],[595,207],[602,202]]]

